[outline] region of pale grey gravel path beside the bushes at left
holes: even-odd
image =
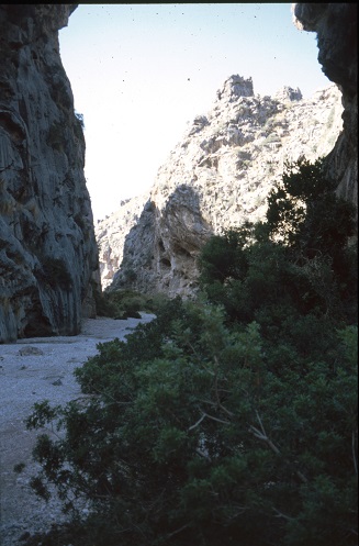
[[[81,394],[72,375],[98,353],[97,344],[124,339],[138,323],[154,315],[126,321],[98,317],[83,321],[82,333],[71,337],[19,339],[0,345],[0,544],[14,546],[24,533],[48,530],[63,520],[60,504],[37,500],[29,487],[36,471],[32,449],[36,432],[26,431],[24,420],[35,402],[45,399],[64,404]],[[14,465],[24,463],[21,473]]]

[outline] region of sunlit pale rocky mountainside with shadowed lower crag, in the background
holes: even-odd
[[[203,243],[262,219],[285,163],[326,156],[341,113],[335,85],[310,99],[290,87],[270,98],[255,94],[250,78],[231,76],[211,110],[188,125],[150,192],[98,224],[103,286],[194,294]]]

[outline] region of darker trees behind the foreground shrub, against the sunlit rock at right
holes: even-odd
[[[288,314],[292,322],[308,313],[356,321],[357,255],[347,245],[355,210],[333,190],[322,160],[288,169],[269,194],[266,222],[228,230],[203,247],[200,282],[210,300],[232,320],[262,323],[266,314],[281,327]]]

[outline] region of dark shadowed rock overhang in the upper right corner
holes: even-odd
[[[295,3],[294,23],[316,32],[318,62],[343,92],[343,133],[327,157],[338,193],[358,205],[358,48],[356,3]]]

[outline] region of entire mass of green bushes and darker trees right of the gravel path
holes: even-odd
[[[82,401],[34,408],[29,427],[59,432],[38,437],[34,489],[89,503],[67,542],[357,544],[352,211],[319,163],[294,175],[266,222],[205,245],[203,298],[100,344],[76,370]]]

